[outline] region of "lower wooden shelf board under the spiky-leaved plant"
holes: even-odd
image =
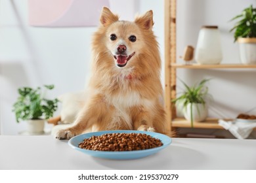
[[[194,122],[195,128],[207,128],[207,129],[224,129],[218,124],[217,118],[207,118],[204,122]],[[191,127],[191,123],[184,118],[175,118],[171,122],[172,127]]]

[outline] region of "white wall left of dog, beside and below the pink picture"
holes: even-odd
[[[24,123],[16,124],[11,111],[18,87],[54,84],[56,88],[48,93],[49,97],[84,88],[89,73],[91,35],[95,30],[95,27],[30,27],[26,0],[1,1],[1,134],[14,135],[26,129]]]

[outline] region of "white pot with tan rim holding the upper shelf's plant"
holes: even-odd
[[[256,64],[256,38],[238,38],[240,59],[245,65]]]

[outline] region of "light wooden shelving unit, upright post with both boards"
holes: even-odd
[[[200,65],[198,63],[177,63],[177,0],[165,0],[165,111],[169,129],[191,127],[184,118],[177,118],[176,108],[171,101],[177,97],[177,69],[255,69],[254,65],[242,63],[221,63],[216,65]],[[254,70],[253,70],[254,71]],[[224,129],[217,118],[207,118],[205,122],[194,122],[195,128]],[[168,129],[168,130],[169,130]],[[256,130],[256,127],[254,128]]]

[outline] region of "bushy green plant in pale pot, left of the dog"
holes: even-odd
[[[18,99],[13,105],[16,122],[28,122],[28,133],[43,133],[45,120],[51,118],[58,107],[58,99],[46,99],[47,90],[53,90],[53,85],[45,85],[44,91],[38,87],[18,88]]]

